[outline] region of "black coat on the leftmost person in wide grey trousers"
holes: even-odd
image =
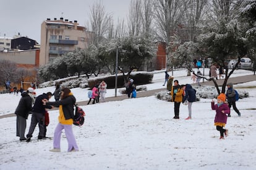
[[[32,109],[32,99],[27,92],[23,92],[21,95],[22,98],[20,99],[19,105],[15,110],[15,114],[27,119],[28,114]]]

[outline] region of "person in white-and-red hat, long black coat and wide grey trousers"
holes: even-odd
[[[22,98],[20,99],[19,105],[15,110],[15,115],[17,116],[16,136],[20,137],[20,141],[23,141],[27,140],[25,138],[25,129],[27,127],[28,115],[32,110],[33,101],[35,101],[35,99],[33,97],[33,94],[31,94],[29,91],[22,92],[21,95]]]

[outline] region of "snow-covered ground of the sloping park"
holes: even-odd
[[[236,70],[233,76],[251,74]],[[180,84],[192,83],[185,70],[174,71],[174,77]],[[163,72],[155,73],[148,90],[163,87],[163,78]],[[53,140],[36,140],[38,128],[32,142],[19,142],[15,117],[2,118],[0,169],[256,169],[256,81],[234,87],[244,88],[250,97],[237,102],[241,117],[231,109],[226,124],[229,136],[224,140],[213,126],[211,99],[193,103],[190,120],[185,120],[187,106],[181,105],[181,119],[173,119],[174,103],[154,96],[82,106],[87,114],[85,124],[73,126],[79,152],[71,153],[64,132],[61,153],[52,153]],[[53,92],[54,87],[36,89],[38,95],[48,91]],[[86,89],[72,92],[78,101],[87,100]],[[113,95],[114,90],[108,89],[107,97]],[[14,113],[20,96],[1,94],[0,99],[4,115]],[[49,111],[49,137],[53,137],[58,115],[58,111]]]

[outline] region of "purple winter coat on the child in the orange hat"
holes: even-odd
[[[230,108],[228,107],[227,103],[223,103],[222,105],[220,105],[220,107],[218,107],[217,104],[215,104],[214,102],[211,102],[211,109],[212,110],[216,110],[216,115],[215,115],[215,119],[214,119],[214,123],[227,123],[227,114],[230,114]],[[224,110],[224,113],[222,113],[221,111]]]

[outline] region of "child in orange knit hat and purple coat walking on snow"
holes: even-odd
[[[211,109],[216,110],[214,125],[217,131],[220,131],[220,139],[224,139],[224,134],[228,136],[228,129],[223,129],[227,123],[227,118],[230,114],[230,108],[226,101],[226,95],[221,93],[217,97],[217,103],[215,104],[214,99],[211,101]]]

